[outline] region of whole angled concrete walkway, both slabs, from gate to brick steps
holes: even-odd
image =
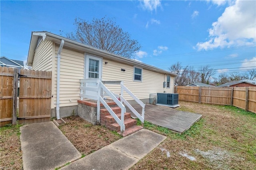
[[[24,170],[54,170],[68,162],[72,163],[62,170],[125,170],[166,139],[142,129],[81,158],[53,122],[24,125],[20,131]]]

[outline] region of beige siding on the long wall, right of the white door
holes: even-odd
[[[105,64],[108,62],[108,64]],[[137,67],[137,66],[136,66]],[[125,71],[121,71],[124,68]],[[139,67],[138,67],[139,68]],[[124,85],[139,99],[148,99],[151,93],[173,92],[174,77],[170,76],[170,88],[164,88],[163,82],[167,80],[167,75],[142,68],[142,82],[133,80],[134,66],[118,63],[116,61],[103,59],[102,80],[124,81]],[[120,87],[117,85],[106,86],[114,93],[120,94]],[[133,100],[124,93],[126,100]]]

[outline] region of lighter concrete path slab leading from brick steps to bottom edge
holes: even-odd
[[[164,139],[166,137],[142,129],[64,166],[61,170],[127,170]]]

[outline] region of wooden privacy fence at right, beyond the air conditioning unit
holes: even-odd
[[[256,113],[256,87],[176,86],[179,100],[236,106]]]

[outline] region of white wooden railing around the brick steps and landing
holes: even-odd
[[[87,84],[88,83],[88,84]],[[108,110],[108,112],[113,116],[115,121],[120,125],[120,131],[123,133],[125,130],[124,125],[124,113],[126,108],[124,104],[134,113],[144,124],[144,111],[145,104],[141,102],[126,86],[124,86],[122,81],[100,81],[100,79],[81,79],[80,80],[80,99],[84,98],[97,100],[97,122],[100,123],[100,102]],[[104,84],[120,84],[121,93],[120,101],[117,99],[117,96],[113,94]],[[123,90],[127,92],[140,106],[142,107],[142,115],[140,115],[123,97]],[[103,92],[105,92],[120,108],[121,108],[121,119],[114,113],[114,111],[108,106],[108,104],[103,99]]]

